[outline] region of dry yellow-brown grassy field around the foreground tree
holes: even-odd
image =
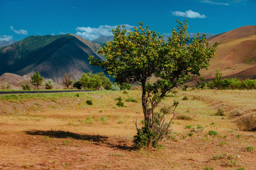
[[[255,90],[178,91],[180,97],[166,97],[162,101],[166,106],[172,105],[174,99],[180,101],[177,115],[193,119],[175,119],[170,138],[164,138],[160,143],[163,147],[151,153],[131,148],[135,121],[142,126],[143,112],[141,103],[124,100],[139,101],[140,91],[75,94],[2,98],[0,169],[256,169],[256,152],[246,149],[256,148],[256,133],[240,131],[236,125],[237,120],[255,114]],[[114,99],[119,96],[127,107],[115,105]],[[182,100],[183,96],[197,99]],[[86,105],[86,100],[92,100],[93,105]],[[225,116],[215,116],[219,107]],[[237,110],[244,112],[233,115]],[[171,117],[167,115],[166,120]],[[203,130],[189,135],[191,129],[186,125]],[[218,135],[207,135],[210,130]],[[214,159],[216,155],[223,156]]]

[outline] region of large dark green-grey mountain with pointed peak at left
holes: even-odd
[[[83,72],[102,71],[88,60],[88,55],[105,60],[95,52],[99,48],[99,44],[70,33],[30,36],[0,48],[0,75],[31,75],[38,71],[42,77],[60,82],[65,73],[73,72],[77,79]]]

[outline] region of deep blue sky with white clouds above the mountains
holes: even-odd
[[[0,0],[0,16],[0,40],[64,33],[93,40],[140,21],[168,35],[186,19],[189,33],[219,34],[256,25],[256,0]]]

